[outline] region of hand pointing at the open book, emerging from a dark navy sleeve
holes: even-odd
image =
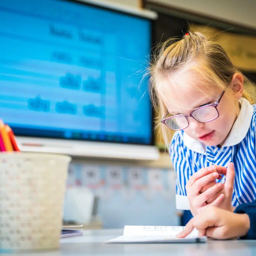
[[[184,238],[196,228],[199,237],[208,236],[215,239],[228,239],[245,236],[250,229],[250,219],[247,214],[237,214],[215,206],[207,206],[196,217],[191,219],[179,238]]]

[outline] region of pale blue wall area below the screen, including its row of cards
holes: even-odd
[[[71,163],[67,187],[86,187],[99,197],[104,228],[179,225],[174,170]]]

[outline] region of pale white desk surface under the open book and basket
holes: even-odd
[[[227,240],[191,244],[106,244],[123,234],[122,229],[86,230],[83,236],[62,238],[60,250],[15,255],[26,256],[255,256],[256,240]],[[14,254],[8,254],[9,256]]]

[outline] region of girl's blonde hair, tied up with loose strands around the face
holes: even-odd
[[[175,94],[176,100],[179,98],[179,88],[178,84],[175,83],[175,77],[180,77],[180,75],[184,74],[184,71],[200,72],[200,75],[206,81],[203,93],[210,93],[212,87],[216,86],[221,90],[225,90],[230,97],[233,94],[228,84],[235,73],[241,73],[217,42],[207,40],[199,32],[189,32],[181,40],[171,38],[157,46],[154,51],[153,62],[149,68],[150,94],[157,114],[156,123],[161,125],[163,139],[167,148],[173,132],[160,122],[167,113],[163,100],[171,102],[167,98],[170,93],[172,95]],[[251,92],[247,91],[247,87],[253,88],[251,86],[252,83],[244,75],[243,77],[244,93],[242,97],[253,104],[253,97],[251,96],[253,90]],[[198,87],[196,89],[202,92]],[[234,102],[234,104],[236,104],[237,113],[239,113],[238,102]]]

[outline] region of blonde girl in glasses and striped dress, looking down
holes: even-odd
[[[209,204],[232,211],[253,201],[256,106],[244,90],[249,80],[219,44],[198,32],[164,43],[150,74],[153,105],[177,173],[177,208],[196,215]]]

